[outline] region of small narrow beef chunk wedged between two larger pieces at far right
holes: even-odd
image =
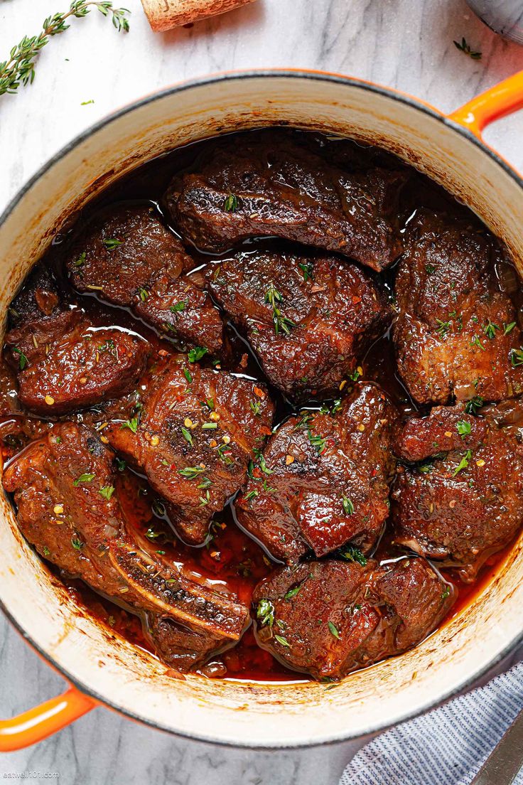
[[[473,409],[475,411],[475,407]],[[484,417],[470,414],[470,405],[435,406],[427,417],[410,417],[394,425],[394,453],[405,461],[477,447],[488,431]]]

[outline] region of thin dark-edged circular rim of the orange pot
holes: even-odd
[[[56,153],[54,153],[48,161],[46,161],[36,172],[33,174],[29,180],[16,192],[12,199],[10,199],[9,203],[3,210],[2,214],[0,214],[0,228],[5,223],[9,215],[15,210],[20,200],[23,199],[24,195],[31,190],[33,185],[38,182],[38,180],[49,170],[52,169],[56,163],[60,162],[71,150],[81,144],[83,141],[88,139],[93,133],[110,126],[112,122],[117,121],[118,119],[122,118],[123,116],[129,114],[132,111],[136,111],[136,109],[142,108],[147,106],[147,104],[151,104],[156,100],[161,100],[164,97],[168,97],[174,95],[176,93],[183,93],[186,90],[191,90],[198,87],[205,87],[215,84],[216,82],[224,82],[224,81],[235,81],[240,79],[306,79],[312,81],[319,81],[319,82],[333,82],[339,85],[350,86],[353,88],[369,91],[371,93],[376,93],[380,96],[384,96],[393,100],[397,100],[402,104],[407,104],[409,107],[416,109],[417,111],[423,112],[425,115],[429,115],[432,119],[441,122],[444,126],[448,126],[454,132],[459,133],[462,137],[467,139],[467,141],[474,144],[476,147],[480,148],[483,152],[485,152],[498,166],[502,168],[502,170],[513,179],[516,184],[523,189],[523,176],[521,176],[517,170],[514,169],[513,166],[507,162],[506,159],[503,159],[503,156],[499,155],[496,150],[491,148],[485,141],[478,137],[476,134],[472,133],[467,127],[463,126],[461,123],[456,122],[455,120],[451,119],[449,116],[445,115],[442,111],[439,111],[437,108],[434,108],[431,104],[428,104],[426,101],[413,97],[409,93],[403,93],[401,90],[381,86],[376,84],[376,82],[369,82],[365,79],[357,79],[350,76],[344,76],[340,74],[336,74],[330,71],[318,71],[314,69],[307,69],[307,68],[262,68],[262,69],[249,69],[249,70],[238,70],[238,71],[225,71],[225,72],[216,72],[209,76],[200,77],[196,79],[191,79],[185,82],[176,82],[175,84],[159,89],[154,91],[153,93],[147,93],[145,96],[132,101],[129,104],[125,104],[121,108],[112,111],[110,114],[105,115],[102,119],[94,122],[92,125],[88,126],[88,128],[82,133],[78,133],[71,141],[65,144],[62,148],[60,148]],[[401,717],[394,722],[393,725],[383,724],[380,721],[376,721],[372,727],[361,728],[361,732],[358,734],[342,732],[338,735],[332,735],[327,739],[321,740],[306,740],[303,743],[292,743],[286,744],[281,743],[279,745],[275,744],[252,744],[252,743],[242,743],[241,740],[239,741],[231,741],[228,739],[216,739],[212,736],[208,736],[205,734],[194,734],[190,732],[185,732],[183,730],[173,730],[173,728],[169,727],[169,725],[164,725],[161,722],[153,721],[147,719],[147,717],[142,717],[140,714],[136,714],[135,712],[124,709],[118,706],[117,703],[114,703],[110,699],[107,699],[105,696],[99,695],[96,691],[90,688],[88,685],[82,683],[82,681],[78,681],[75,677],[71,676],[67,672],[67,670],[61,666],[56,660],[50,655],[48,652],[45,652],[43,648],[41,648],[27,633],[20,623],[14,618],[12,613],[9,611],[9,608],[5,605],[5,602],[2,601],[0,598],[0,610],[3,612],[5,617],[9,620],[9,623],[13,625],[15,630],[20,633],[20,636],[27,641],[27,643],[31,646],[31,648],[45,660],[45,662],[49,663],[49,665],[56,671],[56,673],[60,674],[60,676],[64,677],[66,681],[74,685],[80,692],[82,692],[86,696],[90,696],[91,698],[96,701],[96,703],[100,703],[100,705],[107,707],[111,710],[117,711],[119,714],[123,714],[125,717],[129,717],[134,721],[140,722],[142,725],[147,725],[148,727],[154,728],[155,730],[160,730],[163,732],[168,732],[173,736],[180,736],[182,738],[191,739],[191,741],[199,741],[202,743],[211,743],[220,745],[220,747],[232,747],[232,748],[242,748],[247,750],[272,750],[272,749],[285,749],[285,750],[292,750],[292,749],[302,749],[302,748],[311,748],[311,747],[318,747],[320,745],[332,745],[336,743],[341,743],[343,741],[350,741],[354,739],[363,739],[365,736],[374,736],[379,732],[383,732],[387,730],[387,728],[394,727],[394,725],[399,725],[402,722],[408,721],[413,717],[418,717],[422,714],[426,714],[427,711],[434,709],[440,706],[443,703],[446,703],[453,697],[459,695],[459,693],[467,691],[474,682],[479,681],[485,674],[488,674],[490,670],[492,670],[496,665],[503,661],[516,648],[516,646],[523,641],[523,629],[519,630],[510,641],[506,644],[501,652],[499,652],[494,659],[492,659],[488,664],[482,666],[479,670],[475,670],[470,677],[464,679],[459,685],[456,685],[455,688],[449,689],[447,692],[443,692],[438,696],[437,699],[430,699],[427,703],[421,708],[417,708],[415,710],[405,710]],[[400,655],[401,656],[401,655]]]

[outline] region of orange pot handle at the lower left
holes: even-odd
[[[53,733],[70,725],[78,717],[94,709],[97,703],[76,688],[70,687],[64,695],[46,700],[40,706],[13,717],[0,720],[0,752],[14,752],[31,747]]]

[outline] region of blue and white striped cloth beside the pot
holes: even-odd
[[[340,785],[468,785],[523,709],[523,663],[362,747]],[[521,750],[523,754],[523,750]],[[514,785],[523,785],[523,771]]]

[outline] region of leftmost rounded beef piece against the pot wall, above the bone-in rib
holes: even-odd
[[[93,327],[82,311],[67,309],[45,268],[13,301],[11,320],[5,357],[16,369],[20,401],[38,414],[66,414],[124,395],[145,368],[147,341]]]

